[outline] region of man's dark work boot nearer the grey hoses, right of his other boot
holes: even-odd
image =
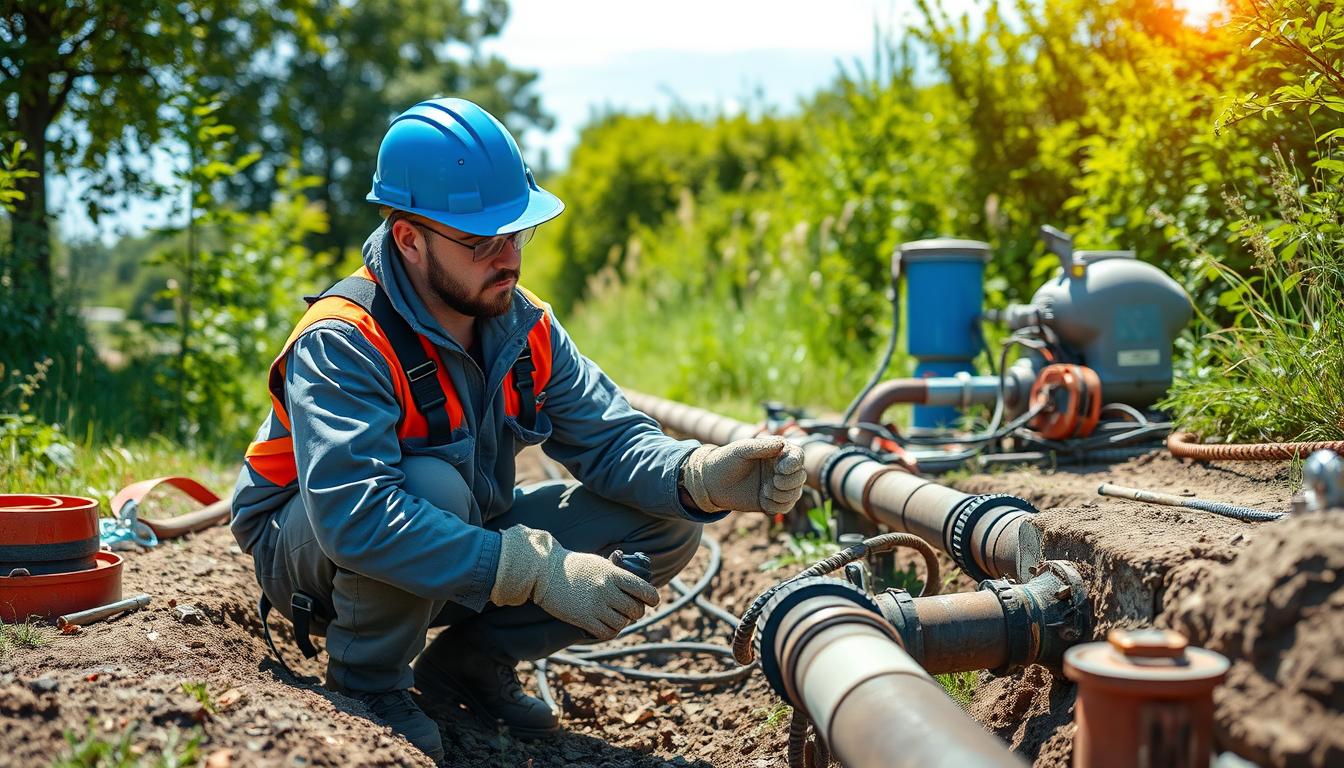
[[[415,659],[415,687],[426,697],[465,703],[491,729],[503,722],[521,738],[555,733],[560,728],[555,713],[544,701],[523,693],[513,667],[445,632]]]

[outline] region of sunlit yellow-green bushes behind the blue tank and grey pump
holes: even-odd
[[[683,143],[712,121],[610,117],[586,133],[556,182],[569,272],[550,289],[564,300],[587,286],[570,327],[622,382],[704,404],[841,406],[890,327],[892,249],[931,235],[991,243],[991,303],[1027,299],[1056,268],[1036,241],[1051,223],[1079,247],[1134,249],[1226,321],[1245,307],[1212,308],[1223,276],[1263,261],[1242,242],[1255,222],[1285,238],[1270,247],[1279,258],[1292,241],[1339,238],[1336,5],[1275,0],[1243,7],[1242,23],[1193,26],[1169,0],[1021,0],[974,17],[926,0],[922,24],[879,40],[879,65],[849,67],[813,100],[798,151],[771,159],[771,184],[679,182],[680,168],[712,167],[712,144],[688,157]],[[763,141],[757,121],[742,130]],[[1310,167],[1301,196],[1285,196],[1296,187],[1282,180],[1298,176],[1275,148]],[[632,156],[653,159],[628,175],[637,186],[585,194]],[[649,199],[661,207],[642,208]],[[655,355],[641,351],[650,336],[669,338]]]

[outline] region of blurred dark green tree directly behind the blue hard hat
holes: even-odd
[[[337,257],[368,230],[364,195],[388,121],[417,101],[457,95],[476,101],[515,133],[548,129],[534,90],[536,74],[481,51],[508,19],[505,0],[320,0],[314,43],[278,43],[242,83],[206,81],[224,94],[224,118],[239,148],[262,159],[230,180],[230,196],[261,208],[276,171],[293,159],[321,179],[327,206],[324,250]]]

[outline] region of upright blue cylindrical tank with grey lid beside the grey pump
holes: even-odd
[[[906,351],[915,377],[974,374],[980,352],[980,311],[985,295],[989,243],[976,239],[918,239],[896,249],[894,274],[906,277]],[[956,426],[952,406],[914,406],[914,428]]]

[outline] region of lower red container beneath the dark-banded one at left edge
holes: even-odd
[[[121,555],[94,554],[95,568],[46,576],[0,576],[0,620],[52,620],[121,600]]]

